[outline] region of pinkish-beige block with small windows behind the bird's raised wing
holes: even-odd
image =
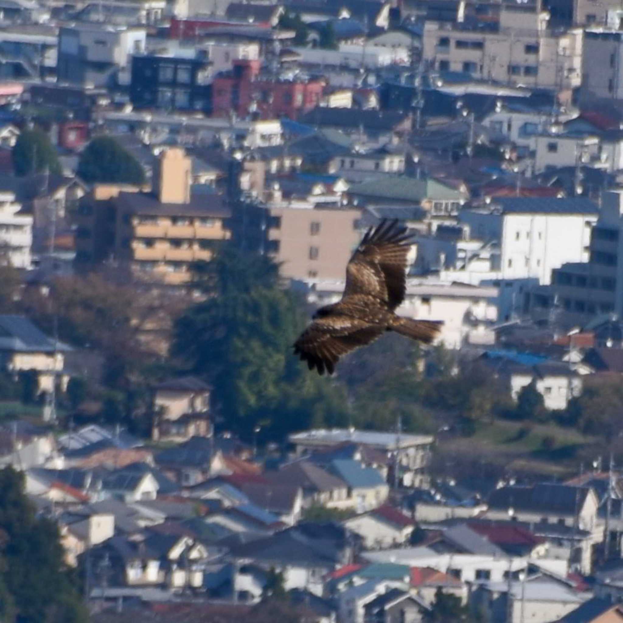
[[[343,279],[361,239],[361,210],[273,207],[268,250],[283,277]]]

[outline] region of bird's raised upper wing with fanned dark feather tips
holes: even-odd
[[[410,238],[407,228],[399,225],[397,219],[383,219],[378,226],[368,229],[346,266],[343,298],[367,294],[395,310],[406,291]]]

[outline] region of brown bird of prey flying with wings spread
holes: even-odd
[[[341,300],[316,310],[313,321],[294,344],[294,354],[310,370],[333,374],[341,356],[396,331],[412,340],[430,343],[440,325],[402,318],[394,311],[406,291],[407,228],[383,219],[370,227],[346,266]]]

